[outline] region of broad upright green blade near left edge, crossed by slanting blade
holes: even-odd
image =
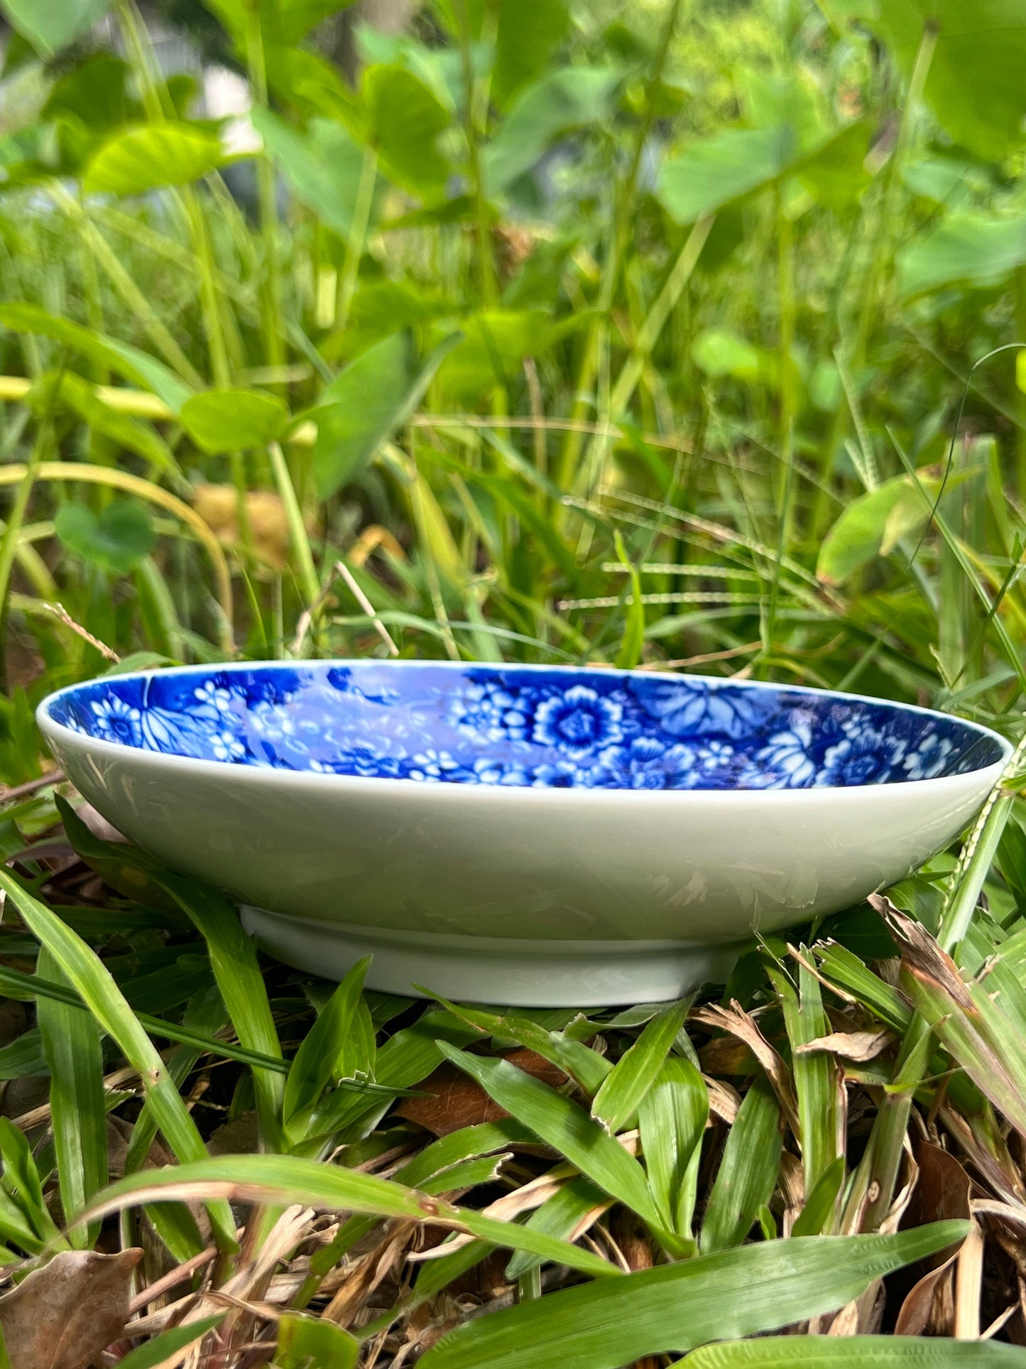
[[[49,951],[41,950],[40,975],[64,980]],[[74,1221],[107,1184],[107,1106],[100,1028],[75,1008],[40,998],[36,1016],[51,1072],[49,1106],[57,1155],[60,1206],[66,1223]],[[92,1250],[98,1227],[79,1227],[71,1243]]]

